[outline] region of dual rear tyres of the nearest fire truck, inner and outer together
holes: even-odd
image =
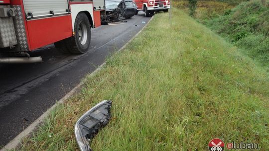
[[[75,20],[75,36],[56,42],[55,47],[63,53],[84,54],[91,43],[91,25],[85,13],[79,13]]]

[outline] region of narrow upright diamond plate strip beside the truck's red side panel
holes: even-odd
[[[11,7],[15,8],[15,17],[13,17],[13,21],[20,51],[29,51],[21,6],[11,5]]]

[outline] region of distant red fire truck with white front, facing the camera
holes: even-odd
[[[137,5],[137,11],[144,11],[148,17],[155,11],[168,12],[170,8],[170,0],[134,0]]]

